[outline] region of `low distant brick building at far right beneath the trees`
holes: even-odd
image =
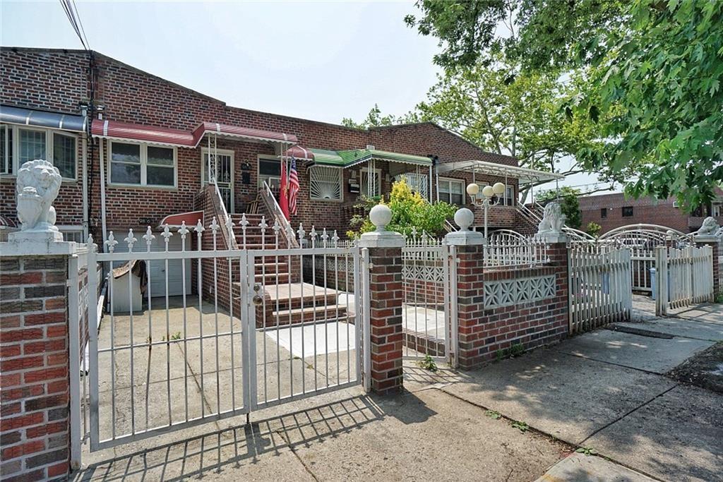
[[[602,226],[601,233],[606,233],[630,224],[656,224],[691,233],[701,227],[707,216],[714,216],[719,224],[723,224],[723,190],[716,191],[718,197],[711,204],[692,213],[678,207],[673,198],[633,199],[625,197],[623,193],[584,196],[580,198],[582,229],[588,223],[597,223]]]

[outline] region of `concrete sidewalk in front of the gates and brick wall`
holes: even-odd
[[[665,376],[723,339],[722,306],[691,312],[476,371],[410,361],[401,395],[352,387],[120,445],[75,480],[721,480],[723,396]]]

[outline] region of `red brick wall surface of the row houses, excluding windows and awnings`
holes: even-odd
[[[92,66],[93,75],[90,76]],[[92,81],[92,82],[91,82]],[[80,113],[80,103],[93,97],[95,106],[103,107],[103,119],[160,126],[171,129],[193,129],[202,121],[286,132],[299,138],[304,147],[343,150],[374,145],[413,155],[436,155],[440,163],[459,160],[487,160],[515,165],[513,158],[479,150],[478,147],[434,124],[410,124],[369,130],[350,129],[305,119],[295,119],[271,113],[249,111],[226,106],[221,100],[181,87],[166,79],[155,77],[100,53],[33,48],[2,48],[0,50],[0,101],[6,105],[35,108],[61,113]],[[93,113],[93,117],[97,117]],[[82,223],[82,144],[77,140],[77,180],[64,182],[56,200],[59,225]],[[90,231],[96,238],[100,233],[100,150],[108,162],[108,141],[92,139],[87,145],[88,182],[90,199]],[[177,183],[174,188],[158,189],[142,186],[106,185],[106,223],[108,229],[155,227],[166,215],[192,210],[194,194],[201,188],[201,155],[204,142],[196,149],[177,149]],[[230,210],[243,212],[257,193],[258,158],[275,157],[273,147],[266,143],[219,140],[218,149],[234,152],[234,206]],[[106,164],[107,165],[107,164]],[[242,167],[243,166],[243,167]],[[246,166],[250,169],[247,171]],[[388,163],[377,162],[382,169],[382,192],[390,191]],[[410,167],[410,171],[416,168]],[[424,168],[425,170],[427,168]],[[309,176],[305,166],[299,167],[299,210],[292,224],[304,223],[337,229],[340,236],[348,229],[351,206],[356,194],[347,190],[352,171],[343,172],[343,200],[322,201],[309,198]],[[247,172],[247,182],[244,181]],[[428,172],[422,171],[427,174]],[[108,172],[106,168],[106,181]],[[451,173],[451,178],[471,181],[471,175]],[[478,182],[504,179],[479,174]],[[515,185],[516,180],[509,179]],[[0,215],[14,218],[14,177],[0,181]],[[436,193],[432,193],[433,199]],[[478,212],[479,222],[482,214]],[[513,207],[496,207],[490,214],[493,227],[515,225]]]

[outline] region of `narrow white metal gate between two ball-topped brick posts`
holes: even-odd
[[[411,236],[402,248],[403,356],[429,356],[457,366],[455,246]]]

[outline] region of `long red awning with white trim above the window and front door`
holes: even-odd
[[[123,122],[93,119],[90,127],[93,137],[105,139],[134,140],[152,142],[153,144],[172,145],[178,147],[197,147],[205,134],[217,134],[221,137],[236,137],[262,142],[283,142],[296,144],[299,139],[294,134],[264,131],[250,127],[229,126],[215,122],[203,122],[192,132],[165,127],[146,126],[143,124],[125,124]]]

